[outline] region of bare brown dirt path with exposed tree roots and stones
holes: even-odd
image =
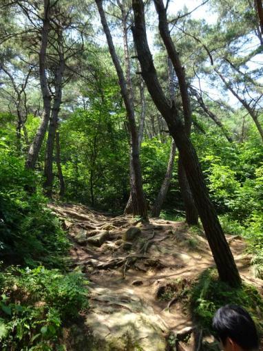
[[[202,231],[157,218],[142,223],[125,215],[109,217],[73,204],[50,204],[50,209],[72,240],[72,268],[81,268],[90,281],[90,309],[84,317],[94,347],[85,350],[198,349],[193,346],[199,342],[195,324],[176,292],[215,266]],[[246,243],[231,235],[227,241],[242,279],[263,294]],[[175,348],[176,335],[187,342]],[[220,349],[208,337],[199,350]]]

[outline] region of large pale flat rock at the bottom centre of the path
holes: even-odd
[[[103,351],[165,351],[169,333],[162,319],[131,289],[90,289],[86,325]],[[111,308],[112,307],[112,308]],[[93,350],[93,349],[91,349]]]

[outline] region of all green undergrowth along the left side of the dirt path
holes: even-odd
[[[66,272],[70,242],[38,173],[0,146],[0,350],[65,350],[63,326],[87,308],[87,284]]]

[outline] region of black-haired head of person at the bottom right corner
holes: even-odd
[[[259,348],[255,323],[244,308],[227,305],[213,317],[213,330],[224,351],[254,351]]]

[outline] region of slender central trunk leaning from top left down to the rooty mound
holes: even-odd
[[[103,10],[102,6],[102,0],[96,0],[96,5],[98,7],[98,12],[101,17],[101,23],[103,25],[103,30],[105,32],[105,35],[107,37],[107,43],[109,46],[109,52],[112,56],[112,61],[114,63],[114,66],[116,68],[116,72],[118,74],[118,81],[120,85],[120,92],[121,95],[123,96],[123,100],[125,103],[125,108],[127,111],[127,118],[129,121],[129,131],[131,133],[131,160],[132,160],[132,166],[134,169],[134,184],[131,184],[132,189],[131,189],[131,195],[132,195],[132,200],[134,201],[134,198],[136,197],[137,203],[138,203],[138,215],[141,217],[147,219],[147,206],[145,202],[145,196],[143,194],[143,181],[142,181],[142,175],[141,175],[141,170],[140,170],[140,158],[139,158],[139,147],[138,147],[138,133],[136,129],[136,122],[134,118],[134,109],[131,105],[131,100],[129,98],[129,94],[127,91],[127,85],[125,82],[123,70],[120,67],[120,63],[118,61],[118,56],[116,55],[114,43],[112,41],[112,35],[109,32],[109,26],[107,24],[107,20],[105,17],[105,12]]]

